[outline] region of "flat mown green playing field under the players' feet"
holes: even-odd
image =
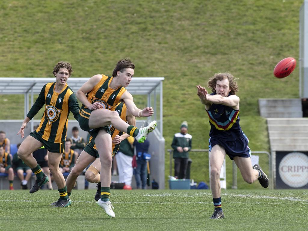
[[[211,220],[209,190],[111,190],[115,218],[95,204],[95,190],[75,190],[72,205],[49,204],[58,193],[3,190],[1,230],[307,230],[304,190],[227,190],[225,218]]]

